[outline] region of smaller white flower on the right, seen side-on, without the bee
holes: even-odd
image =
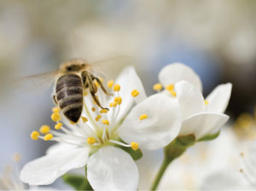
[[[183,115],[179,136],[194,134],[197,139],[218,132],[229,116],[224,111],[230,100],[232,85],[218,85],[205,100],[202,96],[201,79],[189,67],[173,63],[164,67],[159,74],[164,94],[177,100]],[[160,90],[161,85],[154,86]]]

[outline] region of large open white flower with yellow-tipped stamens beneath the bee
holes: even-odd
[[[45,156],[24,166],[20,173],[23,182],[49,184],[67,171],[87,164],[92,188],[137,189],[137,165],[129,153],[114,145],[134,150],[163,148],[177,136],[181,114],[177,101],[168,96],[157,94],[147,98],[133,67],[121,72],[115,84],[109,81],[108,87],[113,87],[114,98],[100,93],[98,96],[103,107],[110,104],[109,111],[99,110],[90,96],[86,96],[82,120],[78,124],[67,122],[70,130],[56,124],[63,133],[44,126],[41,133],[47,135],[32,134],[34,139],[60,143],[49,148]],[[131,108],[134,102],[137,105]],[[55,121],[60,120],[58,113],[54,115]]]

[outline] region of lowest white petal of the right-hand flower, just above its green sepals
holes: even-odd
[[[197,139],[218,130],[228,121],[229,116],[219,113],[196,113],[186,119],[180,130],[179,136],[194,134]]]

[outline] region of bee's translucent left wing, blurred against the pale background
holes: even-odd
[[[49,88],[55,82],[59,74],[60,71],[58,70],[55,72],[45,72],[38,75],[17,78],[12,82],[12,86],[15,90],[22,91],[42,90]]]

